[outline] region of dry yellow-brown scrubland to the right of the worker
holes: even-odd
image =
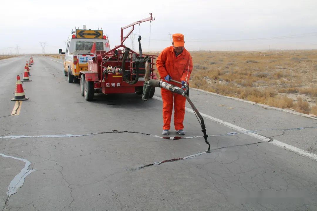
[[[317,114],[317,50],[191,55],[191,87]]]

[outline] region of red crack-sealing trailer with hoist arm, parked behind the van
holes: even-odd
[[[123,42],[133,32],[134,25],[146,21],[154,21],[152,13],[150,17],[131,23],[121,28],[121,44],[110,51],[96,51],[95,43],[92,47],[91,54],[94,55],[92,60],[88,61],[88,70],[80,71],[81,95],[87,101],[94,99],[94,93],[137,93],[142,94],[144,82],[148,79],[156,79],[153,73],[154,59],[156,55],[142,55],[141,36],[139,36],[139,53],[136,53],[125,45]],[[128,34],[123,37],[123,30],[132,27]],[[108,38],[107,38],[108,39]],[[148,78],[145,78],[146,63],[148,65]],[[154,95],[155,88],[152,87],[150,97]]]

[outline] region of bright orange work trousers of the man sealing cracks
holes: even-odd
[[[163,130],[169,130],[171,127],[173,102],[175,130],[184,129],[183,121],[185,116],[186,98],[165,89],[161,89],[161,95],[163,99]]]

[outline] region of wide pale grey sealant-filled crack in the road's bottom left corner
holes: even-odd
[[[25,177],[27,177],[30,173],[32,173],[33,171],[36,171],[36,170],[35,169],[29,169],[29,166],[31,165],[31,162],[26,160],[26,159],[16,158],[16,157],[13,157],[13,156],[10,156],[10,155],[5,155],[5,154],[2,154],[2,153],[0,153],[0,156],[2,156],[4,158],[13,158],[13,159],[16,159],[16,160],[21,160],[21,161],[23,161],[25,163],[24,168],[10,182],[10,185],[8,187],[8,192],[7,192],[7,194],[9,195],[9,198],[10,198],[10,195],[15,194],[17,189],[20,188],[23,185]],[[8,198],[8,200],[9,200],[9,198]]]

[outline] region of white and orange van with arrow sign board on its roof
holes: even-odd
[[[67,39],[66,51],[59,49],[59,54],[65,54],[64,75],[68,83],[77,83],[79,71],[87,71],[88,61],[93,58],[91,48],[96,43],[97,51],[109,51],[110,45],[102,30],[76,29]]]

